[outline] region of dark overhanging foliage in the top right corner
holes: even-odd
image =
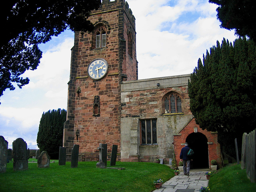
[[[209,0],[217,4],[217,18],[221,27],[234,29],[239,36],[248,36],[256,42],[255,0]]]

